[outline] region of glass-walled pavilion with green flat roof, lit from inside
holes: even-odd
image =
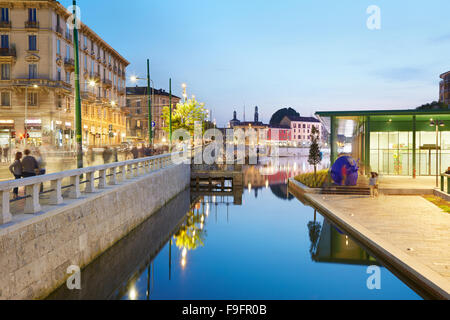
[[[318,112],[330,128],[331,161],[351,154],[364,172],[429,176],[450,167],[450,112]],[[438,166],[438,170],[436,170]]]

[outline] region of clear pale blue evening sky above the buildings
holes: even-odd
[[[60,1],[66,7],[70,0]],[[206,103],[225,125],[259,106],[413,108],[437,100],[450,70],[448,0],[78,0],[82,20],[156,87]],[[369,30],[366,9],[381,9]]]

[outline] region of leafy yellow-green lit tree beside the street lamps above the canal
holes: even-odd
[[[168,106],[163,108],[162,118],[166,123],[164,130],[169,132],[170,109]],[[204,103],[195,99],[180,102],[172,109],[172,130],[185,129],[193,134],[195,122],[200,121],[204,125],[206,118],[207,110]]]

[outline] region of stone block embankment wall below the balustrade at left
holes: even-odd
[[[173,165],[0,230],[0,299],[39,299],[189,186]]]

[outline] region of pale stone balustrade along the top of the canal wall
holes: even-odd
[[[50,195],[46,199],[49,205],[61,205],[67,199],[79,199],[82,194],[81,185],[85,185],[84,193],[90,194],[97,189],[105,189],[108,185],[117,185],[119,180],[124,182],[166,168],[173,164],[174,157],[182,157],[182,152],[0,182],[0,225],[12,221],[10,204],[18,200],[25,200],[23,213],[35,214],[42,210],[40,196],[43,194]],[[81,180],[82,177],[85,177],[84,181]],[[50,189],[40,192],[44,183],[50,183]],[[11,200],[11,191],[21,187],[25,188],[25,196]],[[65,189],[68,192],[63,195]]]

